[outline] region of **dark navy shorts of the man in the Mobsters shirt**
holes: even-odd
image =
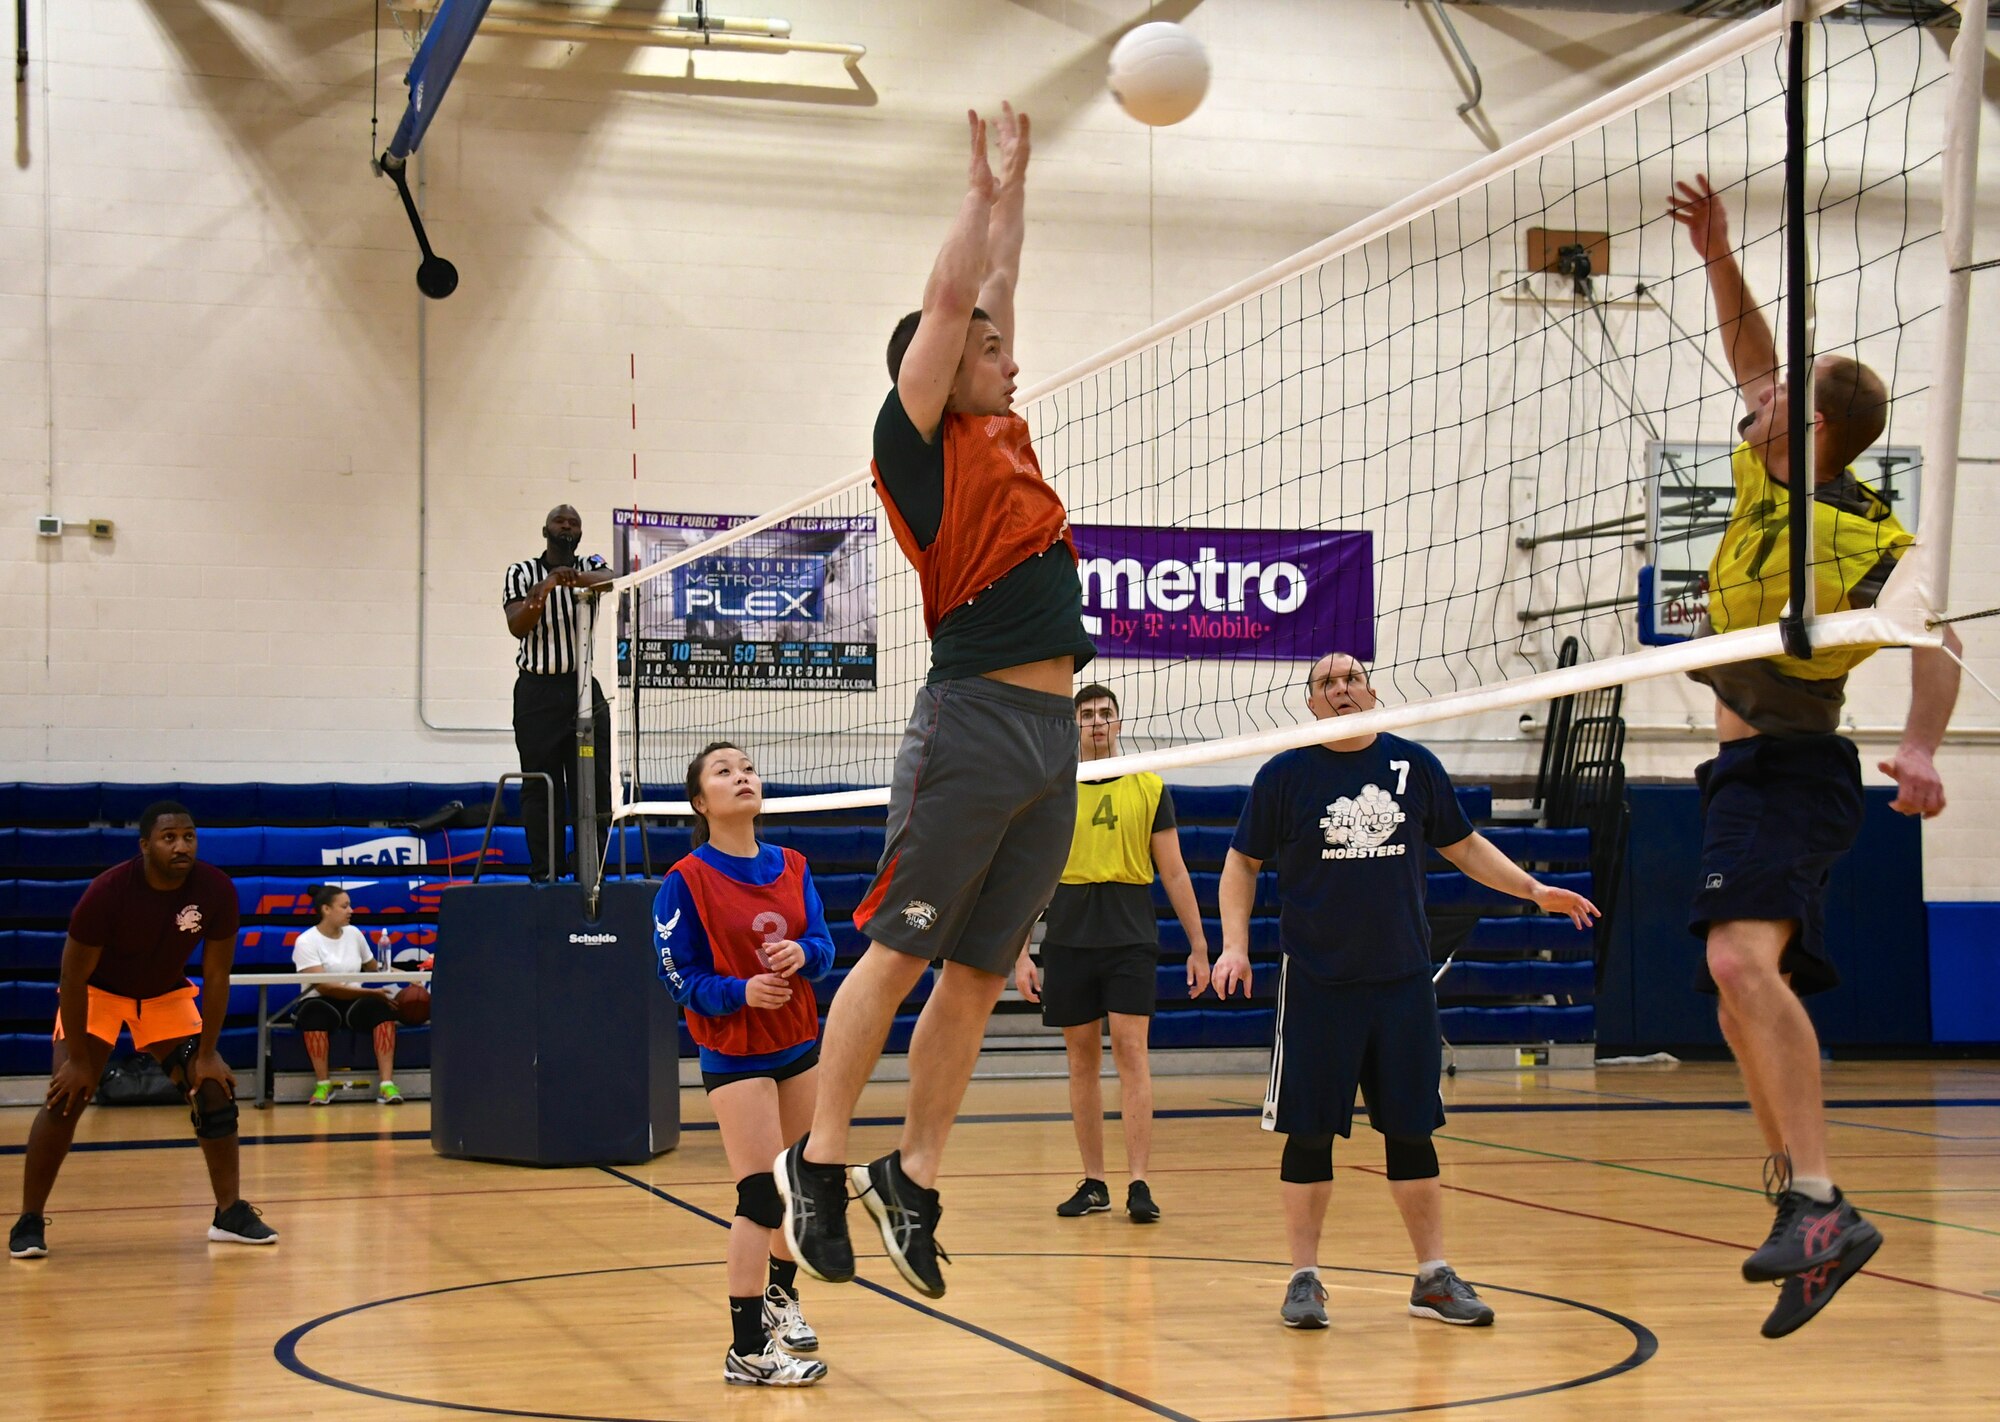
[[[1444,1124],[1444,1046],[1430,974],[1328,984],[1290,958],[1278,976],[1264,1130],[1350,1136],[1354,1088],[1384,1136],[1426,1138]]]

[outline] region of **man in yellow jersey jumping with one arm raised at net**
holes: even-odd
[[[1708,264],[1708,290],[1748,414],[1730,456],[1736,506],[1708,568],[1716,632],[1776,622],[1786,602],[1792,494],[1790,410],[1770,324],[1730,250],[1728,214],[1708,178],[1676,184],[1672,216]],[[1872,606],[1914,542],[1848,468],[1888,424],[1888,388],[1868,366],[1818,356],[1812,368],[1812,586],[1818,612]],[[1934,816],[1944,784],[1932,754],[1958,700],[1958,638],[1912,648],[1910,718],[1896,754],[1894,810]],[[1840,982],[1826,956],[1826,882],[1862,824],[1854,742],[1838,736],[1848,672],[1874,648],[1820,648],[1694,672],[1716,692],[1716,758],[1702,786],[1700,890],[1690,930],[1704,940],[1698,986],[1720,996],[1722,1036],[1770,1150],[1778,1206],[1742,1272],[1776,1282],[1766,1338],[1804,1326],[1880,1248],[1882,1234],[1834,1188],[1826,1158],[1820,1040],[1802,994]]]

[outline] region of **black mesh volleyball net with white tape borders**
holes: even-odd
[[[1522,704],[1782,656],[1784,604],[1804,622],[1810,574],[1834,562],[1830,550],[1808,546],[1784,568],[1770,558],[1770,578],[1736,584],[1738,610],[1748,600],[1756,612],[1738,616],[1738,630],[1642,648],[1634,618],[1648,442],[1654,432],[1656,444],[1678,446],[1728,438],[1726,456],[1742,414],[1742,392],[1714,358],[1706,268],[1668,216],[1674,180],[1696,172],[1726,194],[1746,280],[1766,298],[1806,286],[1806,264],[1788,260],[1786,244],[1808,236],[1818,340],[1838,330],[1828,348],[1864,354],[1882,374],[1890,444],[1908,448],[1926,430],[1916,546],[1872,604],[1822,608],[1810,648],[1940,642],[1932,618],[1944,606],[1966,282],[1944,274],[1936,170],[1942,158],[1944,230],[1970,242],[1984,30],[1968,18],[1946,60],[1918,22],[1834,22],[1834,8],[1810,0],[1804,12],[1768,10],[1714,34],[1020,396],[1084,552],[1084,610],[1100,628],[1086,676],[1124,708],[1126,754],[1086,762],[1080,776],[1208,766],[1336,734],[1304,718],[1310,658],[1248,646],[1298,610],[1294,592],[1312,606],[1322,570],[1294,560],[1300,542],[1364,550],[1364,576],[1340,586],[1350,602],[1360,588],[1366,616],[1338,604],[1314,624],[1316,652],[1370,660],[1384,698],[1340,718],[1342,738],[1462,716],[1512,730],[1500,712]],[[1794,26],[1812,32],[1810,48],[1786,48]],[[1812,124],[1788,128],[1794,54],[1818,98]],[[1838,180],[1816,192],[1788,182],[1798,134],[1806,164],[1796,170]],[[1522,300],[1514,268],[1530,228],[1602,234],[1610,260],[1586,272],[1572,258],[1556,278],[1570,294]],[[1964,266],[1968,250],[1952,260]],[[1612,270],[1646,272],[1644,290],[1620,278],[1608,300]],[[1946,328],[1956,320],[1960,336],[1940,342],[1940,306],[1954,302]],[[1548,310],[1558,304],[1570,310]],[[1790,350],[1804,358],[1812,332]],[[1794,396],[1804,392],[1804,380],[1794,384]],[[1810,418],[1794,420],[1802,426]],[[714,734],[748,746],[774,782],[766,814],[886,804],[928,668],[906,560],[886,554],[870,580],[876,676],[866,686],[746,688],[718,672],[714,654],[728,646],[764,666],[766,652],[784,656],[782,638],[766,646],[684,606],[704,570],[740,566],[788,520],[876,514],[868,478],[862,468],[730,520],[616,580],[630,632],[620,670],[636,698],[626,816],[686,814],[678,770]],[[1720,496],[1708,522],[1728,502],[1726,476]],[[1796,506],[1810,512],[1810,500]],[[1230,538],[1250,550],[1228,552]],[[1776,552],[1786,550],[1780,538]],[[1146,644],[1152,628],[1196,622],[1212,644]],[[1558,666],[1568,636],[1584,656]]]

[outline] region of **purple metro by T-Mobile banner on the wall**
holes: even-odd
[[[1098,656],[1374,656],[1366,530],[1072,524]]]

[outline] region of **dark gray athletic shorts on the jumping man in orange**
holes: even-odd
[[[918,958],[1006,976],[1076,834],[1076,706],[988,676],[916,694],[888,838],[854,926]]]

